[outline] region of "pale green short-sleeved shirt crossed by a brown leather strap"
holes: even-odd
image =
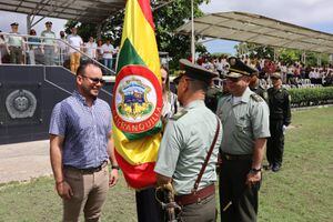
[[[191,102],[169,120],[154,171],[172,178],[178,194],[191,193],[213,142],[218,121],[216,115],[204,105],[202,100]],[[199,190],[216,181],[215,164],[221,138],[222,127]]]

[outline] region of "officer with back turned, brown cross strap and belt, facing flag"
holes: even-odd
[[[183,221],[215,221],[215,164],[222,125],[204,98],[216,73],[188,60],[180,63],[184,72],[174,81],[183,109],[167,124],[154,171],[158,185],[172,183]]]

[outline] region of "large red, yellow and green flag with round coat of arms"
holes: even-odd
[[[160,60],[149,0],[128,0],[113,88],[115,158],[128,184],[155,183],[161,141]]]

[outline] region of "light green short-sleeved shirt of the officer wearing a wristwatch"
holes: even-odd
[[[229,154],[252,154],[254,140],[270,137],[270,111],[265,101],[249,88],[233,102],[233,95],[219,100],[216,114],[223,125],[221,150]]]

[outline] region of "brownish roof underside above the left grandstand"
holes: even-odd
[[[124,0],[0,0],[3,11],[80,22],[101,22],[124,6]]]

